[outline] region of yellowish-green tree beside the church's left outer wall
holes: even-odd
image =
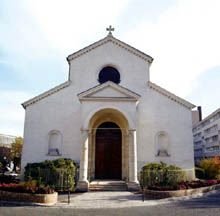
[[[14,162],[14,166],[20,167],[21,154],[22,154],[23,138],[16,137],[15,141],[11,144],[10,158]]]

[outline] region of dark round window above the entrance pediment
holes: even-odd
[[[104,67],[99,73],[98,81],[102,84],[112,81],[116,84],[120,83],[120,73],[113,67]]]

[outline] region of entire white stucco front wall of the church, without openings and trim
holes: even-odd
[[[79,102],[77,94],[98,85],[99,71],[109,65],[120,72],[120,85],[141,96],[137,106],[128,101]],[[106,107],[122,110],[129,119],[130,128],[136,128],[139,169],[146,162],[160,160],[182,168],[192,168],[191,111],[149,89],[148,80],[149,63],[111,42],[72,60],[70,86],[26,108],[22,168],[29,162],[56,158],[47,155],[48,133],[51,130],[62,133],[61,157],[79,161],[80,129],[91,113]],[[169,134],[171,152],[168,158],[155,157],[155,136],[158,131]]]

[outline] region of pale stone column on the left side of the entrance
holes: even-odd
[[[81,157],[80,157],[80,170],[79,181],[77,184],[78,191],[88,191],[88,148],[89,148],[89,131],[81,130]]]

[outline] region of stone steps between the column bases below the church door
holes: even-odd
[[[89,191],[127,191],[124,181],[94,180],[89,184]]]

